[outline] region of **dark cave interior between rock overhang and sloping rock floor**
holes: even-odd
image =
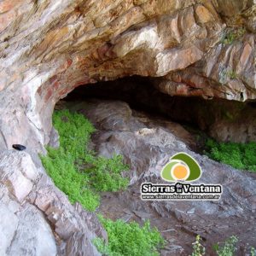
[[[207,133],[211,125],[220,120],[230,123],[245,122],[248,113],[255,112],[253,109],[256,108],[256,102],[169,96],[157,90],[153,82],[154,78],[132,76],[86,84],[73,90],[65,101],[84,101],[91,98],[123,101],[132,109],[171,119]]]

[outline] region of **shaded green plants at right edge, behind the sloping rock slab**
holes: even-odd
[[[207,140],[206,154],[237,169],[256,172],[256,143],[217,143]]]

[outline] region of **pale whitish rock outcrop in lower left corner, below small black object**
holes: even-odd
[[[108,240],[101,224],[92,213],[71,206],[34,157],[36,165],[26,151],[0,153],[1,255],[99,255],[92,230]],[[81,246],[73,237],[81,237]]]

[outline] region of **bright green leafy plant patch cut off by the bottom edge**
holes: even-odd
[[[112,221],[99,216],[102,225],[108,232],[108,244],[101,238],[94,241],[103,255],[108,256],[157,256],[158,250],[165,245],[160,232],[150,227],[146,221],[141,227],[136,222],[125,223],[123,220]]]

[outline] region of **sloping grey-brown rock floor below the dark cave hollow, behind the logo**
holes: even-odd
[[[214,243],[232,235],[239,237],[237,255],[246,254],[247,243],[255,247],[255,177],[195,154],[190,149],[195,145],[193,136],[181,125],[132,111],[125,102],[91,100],[69,104],[96,125],[92,147],[108,157],[122,154],[131,166],[129,189],[102,196],[99,211],[105,216],[138,222],[149,218],[168,241],[162,255],[188,255],[196,234],[201,235],[209,252]],[[160,182],[161,166],[180,151],[200,163],[201,182],[223,185],[220,201],[141,201],[140,184]]]

